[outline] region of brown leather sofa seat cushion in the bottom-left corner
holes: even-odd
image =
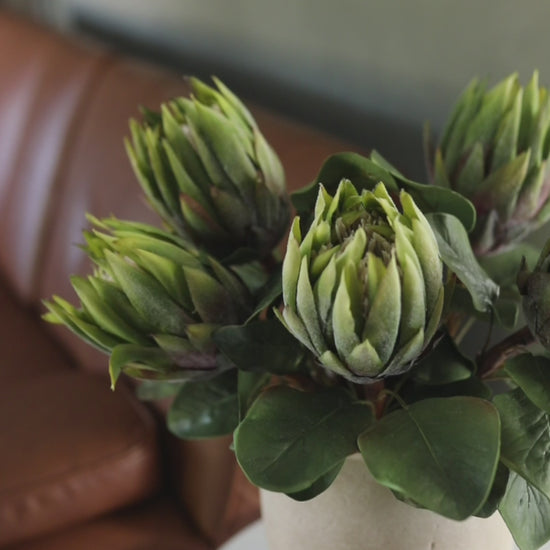
[[[0,546],[138,502],[159,486],[146,407],[76,370],[8,381],[0,400]]]

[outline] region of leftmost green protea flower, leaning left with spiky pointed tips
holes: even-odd
[[[92,222],[85,249],[96,270],[71,279],[81,307],[54,296],[46,319],[111,354],[113,384],[122,370],[152,379],[218,371],[212,332],[250,314],[241,280],[170,233],[114,218]]]

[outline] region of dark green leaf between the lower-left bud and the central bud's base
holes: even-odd
[[[228,359],[247,371],[296,372],[304,353],[298,340],[277,319],[222,327],[213,339]]]

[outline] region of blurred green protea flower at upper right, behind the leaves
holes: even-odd
[[[433,182],[475,205],[477,255],[494,252],[550,217],[548,90],[538,73],[523,89],[512,75],[489,91],[473,81],[448,122],[432,163]]]

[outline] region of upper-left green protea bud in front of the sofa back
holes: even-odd
[[[153,208],[169,226],[211,252],[265,256],[290,219],[279,158],[240,100],[191,79],[192,97],[132,120],[126,148]]]

